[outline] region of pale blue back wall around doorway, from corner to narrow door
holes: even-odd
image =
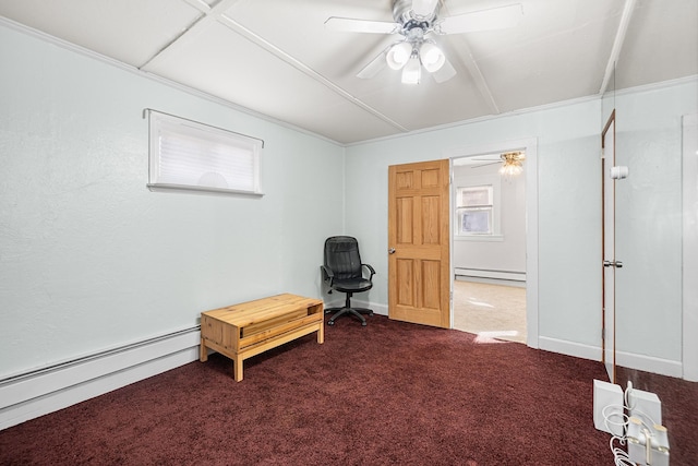
[[[454,148],[538,138],[540,334],[599,345],[601,228],[597,101],[369,142],[347,150],[347,229],[378,272],[372,300],[387,303],[387,167],[446,157]],[[365,203],[370,199],[372,202]],[[567,208],[574,206],[574,208]],[[580,239],[569,248],[569,241]],[[365,254],[365,253],[364,253]]]

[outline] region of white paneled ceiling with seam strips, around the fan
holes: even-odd
[[[442,17],[512,3],[524,16],[435,36],[456,76],[409,85],[389,68],[356,77],[400,36],[324,27],[394,21],[392,0],[0,0],[0,15],[345,144],[698,74],[696,0],[441,3]]]

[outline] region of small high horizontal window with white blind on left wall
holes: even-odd
[[[263,141],[149,110],[151,190],[262,195]]]

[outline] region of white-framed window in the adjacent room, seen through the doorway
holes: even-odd
[[[493,235],[492,184],[458,188],[456,213],[458,216],[457,235]]]

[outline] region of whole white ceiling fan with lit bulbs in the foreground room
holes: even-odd
[[[437,83],[443,83],[455,76],[456,70],[431,38],[432,35],[512,27],[522,16],[520,3],[447,17],[440,17],[440,0],[394,0],[395,22],[332,16],[325,21],[325,27],[338,32],[402,36],[378,53],[357,77],[371,79],[387,64],[393,70],[402,70],[404,83],[419,84],[422,68],[432,73]]]

